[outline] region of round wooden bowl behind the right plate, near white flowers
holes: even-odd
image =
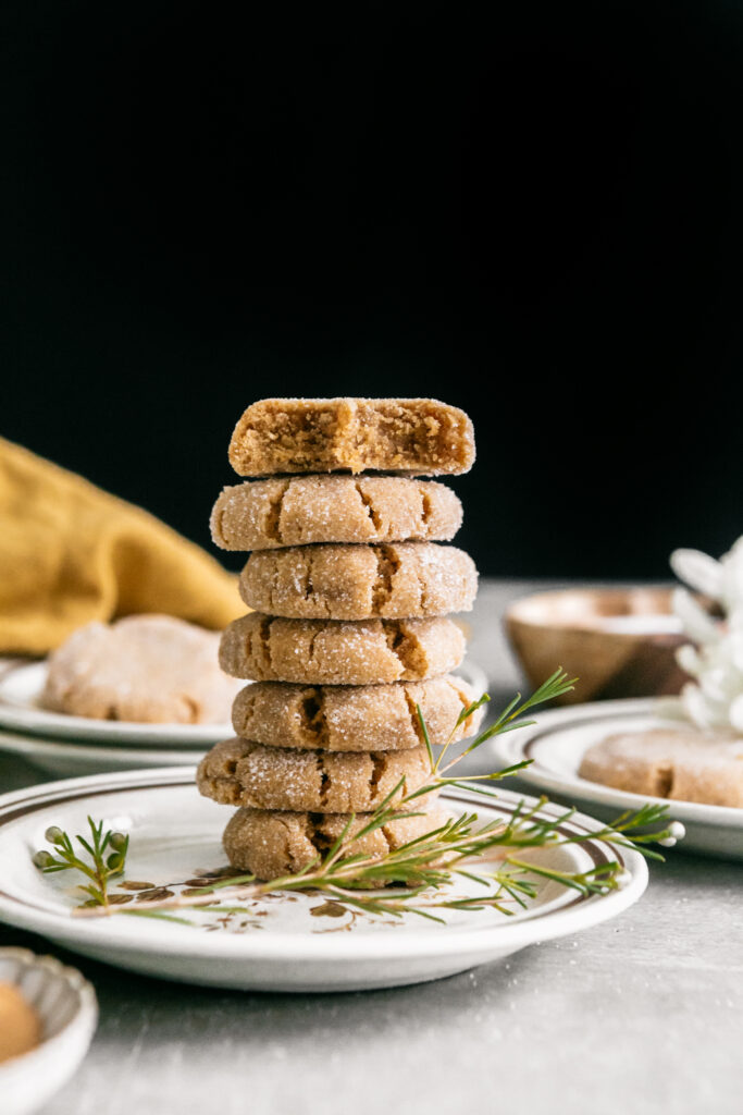
[[[506,609],[506,631],[535,688],[558,667],[579,679],[557,704],[677,694],[688,675],[675,651],[688,637],[672,613],[672,591],[540,592]]]

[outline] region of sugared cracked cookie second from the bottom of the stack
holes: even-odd
[[[426,747],[409,752],[305,752],[227,739],[204,756],[196,785],[222,805],[311,813],[371,813],[404,778],[407,793],[431,777]],[[392,801],[392,799],[391,799]]]

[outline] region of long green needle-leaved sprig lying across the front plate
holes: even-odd
[[[683,826],[676,822],[668,823],[668,811],[665,805],[646,805],[637,813],[622,814],[613,825],[607,825],[598,832],[581,833],[566,828],[574,809],[566,809],[557,816],[546,815],[544,807],[547,798],[541,797],[530,807],[526,802],[520,802],[507,821],[496,821],[483,826],[478,826],[477,813],[465,813],[457,818],[450,818],[432,832],[389,851],[381,859],[348,851],[349,846],[352,847],[363,836],[383,828],[395,820],[420,815],[420,811],[416,809],[417,799],[444,786],[457,786],[476,791],[486,797],[497,797],[497,791],[489,784],[528,766],[528,763],[518,763],[505,770],[459,778],[449,775],[448,772],[492,736],[524,726],[525,712],[573,689],[575,680],[569,679],[561,670],[556,670],[526,700],[521,700],[518,694],[485,731],[453,757],[450,748],[456,729],[488,701],[489,697],[483,695],[462,709],[438,758],[433,756],[433,746],[419,707],[421,733],[431,763],[429,782],[408,793],[404,778],[401,778],[361,828],[353,828],[355,815],[351,815],[334,844],[324,855],[317,854],[299,874],[284,875],[268,882],[260,882],[250,874],[232,876],[212,882],[196,892],[192,890],[187,895],[141,901],[136,910],[123,909],[119,905],[89,904],[74,913],[78,917],[96,917],[115,913],[147,914],[150,911],[154,913],[185,906],[213,908],[215,901],[218,903],[222,898],[245,901],[277,891],[313,889],[366,913],[384,913],[392,917],[416,913],[441,921],[442,919],[432,912],[434,909],[495,908],[502,913],[511,913],[506,903],[525,905],[526,900],[536,894],[536,881],[539,878],[554,880],[586,895],[617,890],[628,881],[627,872],[618,860],[588,871],[568,873],[527,862],[521,857],[521,853],[527,849],[556,847],[579,844],[589,838],[600,838],[607,844],[634,847],[646,856],[662,860],[662,855],[644,845],[657,842],[669,846],[683,835]],[[658,824],[664,827],[647,832],[649,825]],[[500,861],[500,866],[495,871],[485,871],[483,864],[488,860]],[[481,885],[482,896],[449,898],[440,893],[457,879],[467,879]],[[389,884],[395,884],[397,889],[384,891],[383,888]],[[373,893],[364,893],[369,891]]]

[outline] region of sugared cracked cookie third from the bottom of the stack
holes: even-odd
[[[237,694],[232,724],[238,736],[273,747],[395,752],[423,743],[417,705],[434,746],[452,731],[453,740],[473,736],[485,715],[481,708],[454,730],[459,714],[473,700],[470,686],[451,675],[381,686],[258,681]]]

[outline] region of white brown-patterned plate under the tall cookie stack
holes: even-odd
[[[226,865],[221,835],[229,812],[201,797],[194,769],[164,768],[49,783],[0,798],[0,919],[59,946],[120,968],[193,983],[272,991],[339,991],[417,983],[465,971],[525,946],[576,933],[620,913],[647,884],[647,867],[633,850],[588,837],[532,853],[553,866],[587,870],[619,860],[628,872],[622,890],[584,898],[542,880],[528,909],[512,917],[488,908],[444,911],[446,924],[413,914],[397,920],[359,914],[317,895],[284,894],[248,902],[246,913],[182,911],[192,924],[126,914],[110,919],[71,915],[79,901],[67,872],[45,875],[31,863],[46,846],[45,831],[60,825],[85,833],[87,816],[130,834],[127,878],[177,893],[198,872]],[[482,821],[507,816],[520,798],[505,793],[498,808],[482,805]],[[456,808],[473,797],[450,795]],[[547,806],[546,813],[559,813]],[[598,827],[576,816],[573,832]],[[468,880],[452,893],[482,893]],[[135,900],[133,900],[133,905]],[[136,905],[135,905],[136,908]]]

